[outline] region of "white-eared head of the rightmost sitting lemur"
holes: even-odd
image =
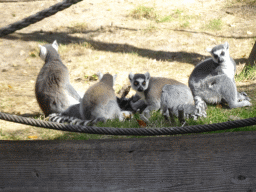
[[[224,63],[227,59],[229,59],[229,45],[228,42],[217,45],[215,47],[208,48],[207,51],[212,55],[213,61],[215,63]]]

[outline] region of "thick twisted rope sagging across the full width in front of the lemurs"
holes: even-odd
[[[36,127],[44,127],[49,129],[56,129],[70,132],[80,132],[89,134],[104,134],[104,135],[136,135],[136,136],[154,136],[154,135],[177,135],[187,133],[202,133],[209,131],[218,131],[225,129],[234,129],[238,127],[246,127],[256,125],[256,117],[249,119],[242,119],[236,121],[228,121],[224,123],[214,123],[208,125],[193,125],[186,127],[165,127],[157,129],[146,128],[110,128],[110,127],[90,127],[80,125],[69,125],[62,123],[54,123],[42,121],[32,118],[21,117],[0,112],[0,119],[31,125]]]

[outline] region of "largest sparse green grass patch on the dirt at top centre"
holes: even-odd
[[[156,19],[157,17],[154,7],[147,7],[144,5],[140,5],[133,9],[129,15],[135,19]]]

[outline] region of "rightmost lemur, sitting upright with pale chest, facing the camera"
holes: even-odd
[[[199,63],[189,77],[194,95],[210,104],[226,102],[230,108],[251,106],[245,92],[237,92],[234,75],[236,63],[229,55],[229,44],[208,48],[212,58]]]

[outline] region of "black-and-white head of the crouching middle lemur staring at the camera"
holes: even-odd
[[[129,80],[131,86],[135,91],[144,92],[148,89],[150,74],[147,72],[145,74],[129,74]]]

